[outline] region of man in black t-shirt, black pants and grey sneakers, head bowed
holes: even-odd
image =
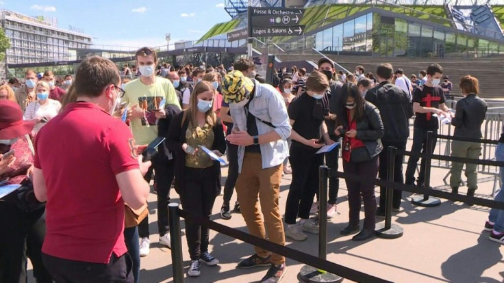
[[[322,98],[329,81],[322,72],[312,72],[306,79],[306,92],[289,105],[292,132],[289,161],[292,183],[286,203],[286,236],[304,241],[304,232],[318,234],[318,226],[310,221],[310,208],[318,188],[318,167],[324,164],[324,154],[317,150],[325,144],[334,144],[327,134]],[[320,139],[323,138],[323,142]],[[296,223],[297,217],[301,219]]]

